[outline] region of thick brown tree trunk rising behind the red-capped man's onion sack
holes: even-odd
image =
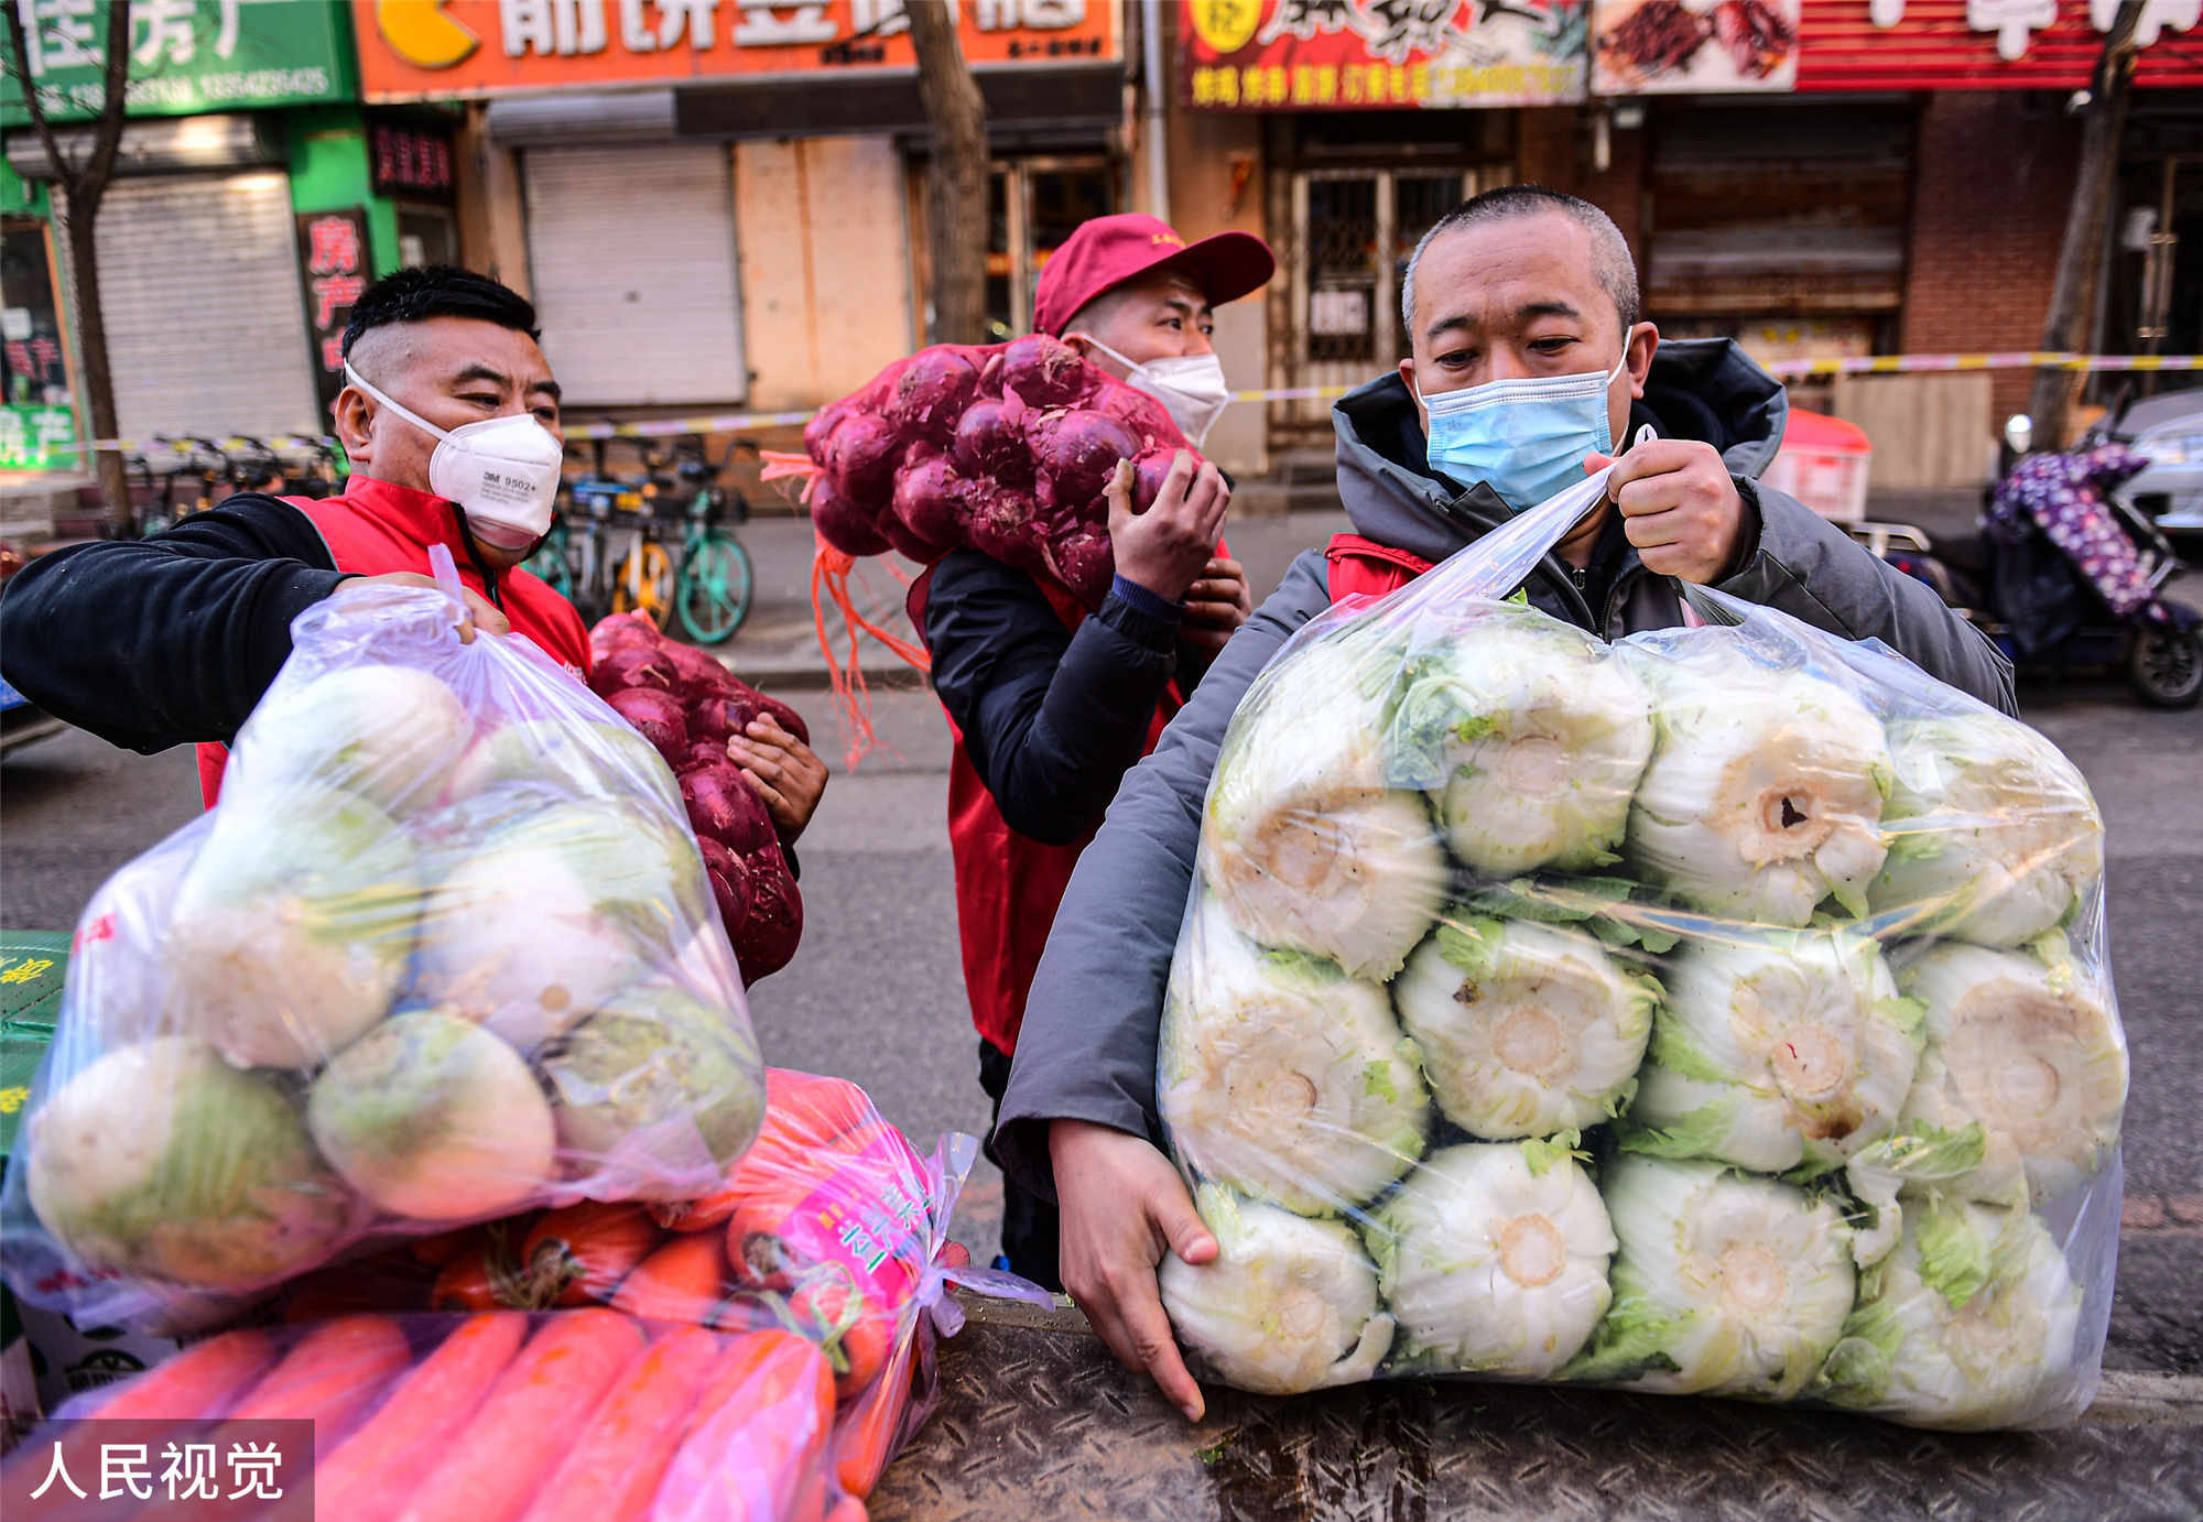
[[[956,37],[956,11],[916,0],[919,99],[932,128],[925,222],[932,247],[934,344],[987,341],[987,104]]]

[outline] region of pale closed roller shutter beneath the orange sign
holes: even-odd
[[[727,148],[531,148],[522,172],[529,280],[566,403],[742,401]]]

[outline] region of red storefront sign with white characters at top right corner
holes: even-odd
[[[2077,90],[2115,0],[1802,0],[1798,90]],[[1888,24],[1881,24],[1888,22]],[[2174,31],[2188,22],[2185,31]],[[2141,88],[2203,86],[2194,0],[2144,0]]]

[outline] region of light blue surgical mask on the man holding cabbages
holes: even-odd
[[[1626,363],[1628,350],[1606,374],[1487,381],[1423,396],[1430,467],[1467,487],[1485,482],[1518,513],[1538,507],[1584,478],[1586,454],[1613,454],[1606,390]]]

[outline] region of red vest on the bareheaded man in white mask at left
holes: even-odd
[[[392,570],[419,570],[432,575],[427,551],[443,544],[452,551],[458,579],[489,597],[482,573],[474,568],[458,513],[452,504],[427,491],[392,487],[388,480],[352,476],[344,482],[344,496],[315,502],[313,498],[282,498],[302,511],[319,531],[322,544],[337,570],[352,570],[368,577]],[[588,676],[588,630],[573,604],[553,593],[527,570],[507,570],[498,577],[496,601],[504,617],[513,621],[516,634],[527,634],[553,661],[575,674]],[[229,747],[198,747],[198,791],[214,808],[223,791],[223,769],[229,764]]]

